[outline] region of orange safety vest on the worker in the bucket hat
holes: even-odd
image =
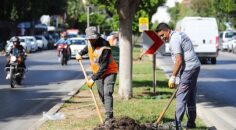
[[[90,45],[90,43],[88,44],[88,56],[89,56],[89,60],[90,60],[90,64],[91,64],[91,69],[93,74],[96,74],[98,72],[98,70],[100,69],[98,60],[103,52],[104,49],[111,49],[110,47],[97,47],[95,50],[93,50],[92,46]],[[108,75],[108,74],[116,74],[118,72],[118,65],[116,63],[116,61],[113,59],[112,55],[110,55],[109,59],[109,63],[107,66],[107,69],[105,71],[105,73],[102,75]]]

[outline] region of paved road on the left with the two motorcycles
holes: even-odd
[[[83,61],[87,68],[88,60]],[[30,54],[22,86],[10,88],[5,80],[5,57],[0,56],[0,130],[26,130],[69,92],[83,83],[78,62],[61,66],[55,50]]]

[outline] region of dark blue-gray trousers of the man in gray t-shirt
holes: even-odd
[[[176,121],[181,126],[185,110],[188,123],[195,123],[197,78],[200,67],[180,72],[180,82],[176,93]]]

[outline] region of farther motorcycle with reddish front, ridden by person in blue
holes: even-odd
[[[61,65],[67,65],[68,60],[70,59],[70,47],[66,43],[61,43],[57,47],[59,61]]]

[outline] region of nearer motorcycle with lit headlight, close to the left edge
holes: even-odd
[[[6,70],[9,71],[10,75],[10,85],[11,88],[14,88],[16,84],[21,85],[21,81],[23,80],[25,68],[20,67],[20,64],[24,62],[24,56],[17,54],[17,50],[15,53],[10,54],[9,67],[6,67]]]

